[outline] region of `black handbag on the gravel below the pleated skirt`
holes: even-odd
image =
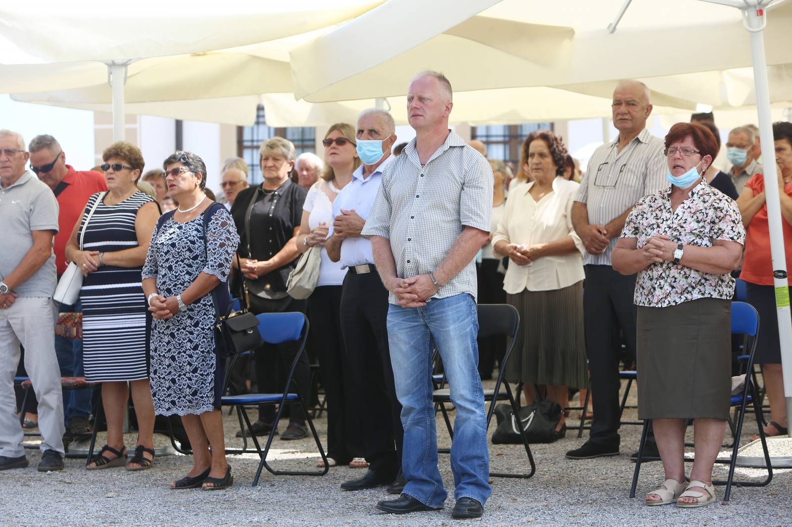
[[[537,400],[521,407],[517,418],[511,404],[498,404],[495,407],[497,428],[493,433],[493,445],[516,445],[523,442],[518,419],[529,443],[552,443],[558,439],[555,427],[561,421],[561,415],[561,405],[550,400]]]

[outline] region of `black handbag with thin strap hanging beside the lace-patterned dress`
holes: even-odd
[[[220,207],[223,207],[220,205]],[[211,207],[204,212],[204,254],[208,244],[206,231],[208,229]],[[208,259],[208,256],[207,256]],[[237,255],[237,265],[239,255]],[[243,305],[239,311],[233,311],[234,305],[229,302],[225,314],[221,314],[217,295],[219,290],[225,290],[225,284],[220,283],[211,291],[211,301],[215,304],[215,354],[220,358],[229,358],[235,354],[245,351],[255,350],[264,343],[261,333],[258,331],[258,319],[250,313],[247,305]],[[241,292],[240,292],[241,293]],[[240,302],[244,301],[244,296],[240,294]]]

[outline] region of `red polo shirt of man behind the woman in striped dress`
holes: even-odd
[[[66,271],[66,244],[71,237],[74,224],[82,215],[82,210],[86,207],[89,197],[97,192],[106,191],[105,175],[93,170],[77,172],[71,165],[66,165],[69,169],[63,183],[67,188],[58,195],[58,214],[59,231],[55,235],[55,266],[58,267],[58,275]]]

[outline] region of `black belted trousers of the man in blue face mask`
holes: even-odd
[[[341,330],[355,379],[360,442],[371,470],[395,476],[402,466],[404,430],[390,365],[387,313],[388,292],[379,275],[349,271],[341,292]]]

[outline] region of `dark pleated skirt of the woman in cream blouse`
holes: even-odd
[[[506,378],[536,385],[588,387],[583,332],[583,281],[550,291],[507,294],[520,313],[520,332]]]

